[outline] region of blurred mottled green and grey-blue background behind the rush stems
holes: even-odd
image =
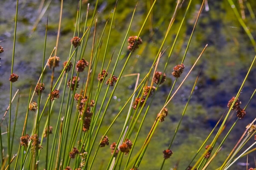
[[[239,8],[239,3],[233,0],[236,7]],[[49,1],[45,1],[44,6]],[[139,140],[136,143],[136,151],[142,146],[155,118],[156,114],[162,108],[167,95],[171,89],[174,77],[171,72],[176,64],[179,64],[184,55],[187,42],[191,31],[194,26],[200,5],[202,1],[193,0],[191,7],[188,11],[184,26],[182,27],[181,34],[178,37],[177,44],[175,46],[174,52],[171,56],[169,65],[166,71],[166,82],[161,85],[159,91],[155,96],[151,110],[146,117],[146,122],[141,130]],[[19,89],[20,105],[17,119],[17,129],[15,132],[15,144],[13,153],[17,152],[19,146],[19,137],[22,132],[26,106],[28,100],[29,87],[32,82],[33,88],[41,73],[41,62],[43,56],[44,47],[44,36],[45,36],[45,25],[48,19],[48,37],[47,37],[47,49],[46,56],[49,56],[52,49],[56,44],[56,36],[58,31],[58,21],[59,21],[59,11],[60,11],[60,1],[52,0],[44,16],[40,19],[36,30],[33,32],[34,24],[36,23],[38,16],[40,14],[40,3],[39,0],[20,0],[18,8],[18,23],[17,23],[17,41],[15,49],[15,60],[14,60],[14,73],[19,75],[18,82],[13,84],[13,94]],[[92,12],[95,6],[95,1],[83,1],[82,5],[82,18],[81,25],[83,27],[87,4],[89,6],[89,21],[91,21]],[[107,52],[107,59],[110,59],[114,48],[116,51],[114,53],[114,60],[118,55],[121,43],[125,36],[126,30],[128,28],[133,9],[137,1],[134,0],[120,0],[116,8],[116,15],[114,18],[114,24],[112,27],[110,47]],[[256,14],[256,1],[254,0],[244,0],[244,12],[245,19],[244,22],[248,26],[252,35],[256,37],[256,20],[251,17],[247,3],[251,5],[254,14]],[[0,66],[0,118],[2,119],[3,114],[9,104],[9,75],[12,62],[12,48],[13,48],[13,36],[14,36],[14,20],[15,20],[15,9],[16,1],[13,0],[1,0],[0,2],[0,45],[4,47],[4,53],[0,55],[1,66]],[[148,10],[152,4],[152,0],[141,0],[138,2],[135,18],[132,23],[131,31],[129,36],[136,35],[141,28],[141,25],[146,17]],[[115,0],[109,1],[99,1],[98,4],[98,29],[100,35],[102,29],[105,25],[106,19],[108,18],[111,10],[114,8]],[[180,22],[184,16],[185,10],[187,8],[188,1],[185,0],[183,6],[178,12],[177,18],[173,27],[170,30],[167,41],[163,49],[167,48],[166,52],[160,59],[158,70],[161,71],[164,68],[164,63],[168,57],[169,50],[172,46],[174,38],[176,36]],[[206,44],[207,47],[205,53],[200,59],[199,63],[188,77],[185,84],[178,91],[175,98],[168,104],[169,115],[164,122],[159,124],[156,133],[145,153],[145,156],[140,164],[140,169],[159,169],[163,160],[162,151],[166,149],[169,145],[170,139],[173,136],[175,128],[177,126],[178,120],[182,114],[185,107],[187,99],[189,97],[191,88],[199,71],[201,70],[199,81],[197,83],[194,94],[189,103],[188,109],[179,128],[177,136],[174,140],[172,146],[172,151],[174,154],[170,159],[165,161],[164,169],[174,168],[178,165],[178,169],[185,169],[191,158],[194,156],[197,149],[201,146],[201,143],[205,140],[207,135],[210,133],[212,128],[215,126],[219,120],[222,113],[227,109],[227,102],[231,97],[235,96],[248,69],[251,64],[253,57],[255,56],[254,48],[247,34],[244,32],[243,28],[239,24],[234,12],[229,5],[228,1],[208,1],[209,11],[203,9],[194,36],[192,38],[188,53],[185,59],[185,71],[180,79],[177,81],[176,88],[180,82],[188,73],[189,69],[195,62],[196,58],[201,53],[201,50]],[[176,1],[174,0],[157,0],[155,7],[153,8],[152,15],[149,21],[146,23],[145,28],[142,31],[141,38],[143,40],[143,45],[132,54],[126,69],[125,74],[130,73],[140,73],[141,79],[150,69],[151,64],[157,54],[157,51],[162,43],[165,32],[167,30],[170,19],[172,18],[174,9],[176,6]],[[69,55],[70,50],[70,39],[73,36],[73,30],[75,27],[75,18],[77,14],[78,1],[65,0],[63,4],[63,15],[60,31],[60,40],[57,56],[60,57],[61,62],[64,62]],[[104,55],[104,48],[106,44],[106,38],[108,35],[109,26],[106,27],[106,33],[103,36],[102,50],[100,57]],[[83,28],[81,28],[82,32]],[[91,53],[93,28],[90,31],[90,39],[88,46],[85,51],[84,58],[89,60]],[[127,43],[128,44],[128,43]],[[126,45],[123,48],[122,57],[124,58],[119,62],[117,72],[121,71],[124,64],[125,58],[128,55],[128,50]],[[101,65],[101,61],[99,62]],[[114,62],[111,66],[114,65]],[[61,67],[56,69],[56,75],[58,75],[62,69]],[[98,67],[100,71],[100,67]],[[45,81],[46,90],[42,95],[42,103],[45,103],[46,97],[50,90],[50,76],[51,70],[46,68]],[[86,81],[86,72],[83,72],[80,76],[80,88],[82,84]],[[249,100],[251,94],[256,87],[256,69],[252,69],[248,80],[243,88],[242,94],[240,95],[240,101],[242,102],[242,107],[245,106]],[[97,81],[97,77],[94,79]],[[55,80],[56,81],[56,80]],[[116,90],[114,96],[116,99],[112,99],[111,106],[105,116],[104,125],[100,131],[98,137],[100,140],[101,135],[105,132],[108,125],[114,119],[115,115],[122,108],[125,101],[130,97],[135,86],[136,77],[125,77],[119,83],[118,89]],[[105,91],[106,87],[102,91]],[[80,89],[79,89],[80,90]],[[63,95],[61,93],[61,96]],[[103,94],[102,94],[103,95]],[[36,98],[35,98],[36,100]],[[59,100],[60,101],[60,100]],[[58,101],[58,102],[59,102]],[[14,100],[12,105],[15,111],[17,98]],[[51,124],[55,128],[55,122],[58,115],[58,102],[56,101],[54,106],[54,112],[52,113]],[[100,107],[100,106],[97,106]],[[218,168],[226,159],[227,154],[232,150],[236,142],[239,140],[240,136],[245,130],[245,126],[249,124],[255,118],[255,108],[256,102],[255,98],[251,101],[247,111],[246,117],[243,120],[239,120],[237,125],[232,130],[228,139],[223,145],[223,149],[217,155],[215,160],[211,163],[208,169]],[[42,109],[42,108],[40,108]],[[118,140],[119,134],[122,130],[123,123],[126,117],[128,108],[125,109],[122,116],[117,120],[117,122],[112,127],[108,134],[110,143],[116,142]],[[144,113],[144,112],[143,112]],[[47,111],[44,113],[43,119],[46,119]],[[14,113],[13,113],[14,116]],[[142,116],[141,116],[142,118]],[[8,114],[6,116],[8,120]],[[14,120],[14,117],[13,117]],[[29,124],[27,132],[31,132],[33,126],[34,113],[29,112]],[[227,130],[236,120],[235,114],[231,118],[227,128],[224,130],[223,134],[227,133]],[[43,120],[44,121],[44,120]],[[141,119],[139,120],[141,121]],[[140,122],[139,122],[140,123]],[[41,124],[41,126],[43,126]],[[137,130],[138,126],[135,128]],[[55,130],[55,129],[54,129]],[[6,122],[4,121],[2,125],[2,132],[6,132]],[[50,136],[50,141],[53,135]],[[132,136],[133,141],[135,137]],[[223,138],[223,135],[220,139]],[[211,138],[212,139],[212,138]],[[4,150],[7,154],[7,134],[3,135]],[[210,141],[209,141],[210,142]],[[248,142],[248,145],[252,143]],[[46,140],[43,142],[46,145]],[[248,146],[247,145],[247,146]],[[245,147],[247,147],[245,146]],[[44,149],[43,149],[44,150]],[[245,149],[244,149],[245,150]],[[133,152],[133,155],[136,153]],[[105,169],[109,162],[111,150],[109,147],[100,148],[100,153],[97,155],[96,162],[94,163],[93,169]],[[44,160],[45,152],[41,152],[40,160]],[[255,152],[248,155],[248,162],[253,167]],[[124,156],[125,159],[126,156]],[[71,164],[72,164],[71,160]],[[231,169],[245,169],[246,158],[242,158],[237,161],[236,164],[232,166]],[[39,166],[44,166],[44,162],[40,161]],[[251,167],[249,165],[249,167]],[[42,169],[42,168],[41,168]]]

